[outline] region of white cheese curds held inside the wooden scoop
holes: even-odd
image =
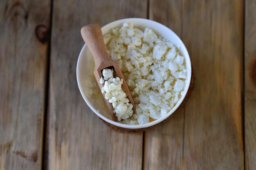
[[[100,84],[104,84],[101,93],[105,93],[105,98],[112,103],[113,112],[118,121],[128,119],[132,116],[133,106],[122,89],[123,79],[114,78],[112,69],[103,69],[102,75],[103,77],[99,81]]]

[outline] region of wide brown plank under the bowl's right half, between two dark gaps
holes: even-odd
[[[196,81],[180,113],[146,132],[144,169],[243,169],[243,1],[150,0],[149,8],[181,36]]]

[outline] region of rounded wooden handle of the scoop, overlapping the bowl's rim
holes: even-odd
[[[99,24],[88,24],[81,29],[81,35],[94,57],[95,63],[110,58],[104,44]]]

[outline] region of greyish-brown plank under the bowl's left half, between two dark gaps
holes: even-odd
[[[141,169],[142,132],[116,132],[90,110],[77,86],[76,62],[82,26],[146,18],[146,8],[137,0],[54,0],[47,169]]]

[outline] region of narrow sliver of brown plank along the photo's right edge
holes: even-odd
[[[245,169],[256,169],[256,2],[245,0]]]

